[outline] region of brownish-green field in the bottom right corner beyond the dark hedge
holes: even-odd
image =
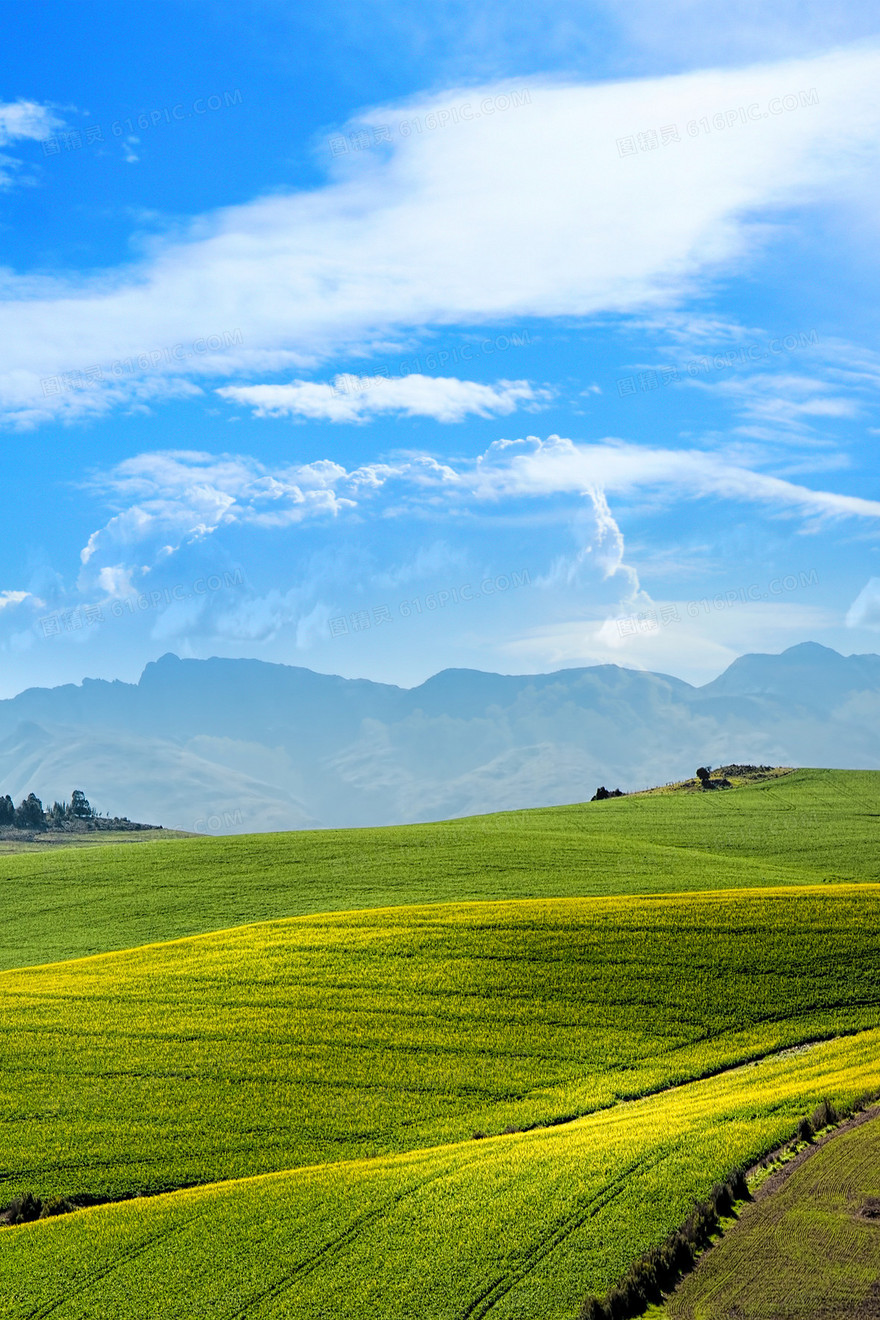
[[[865,1206],[873,1213],[865,1216]],[[669,1320],[880,1313],[880,1121],[833,1137],[778,1191],[747,1206],[666,1313]]]

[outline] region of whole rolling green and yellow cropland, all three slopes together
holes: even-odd
[[[117,1204],[0,1228],[0,1313],[575,1320],[880,1086],[879,803],[5,857],[0,1203]]]

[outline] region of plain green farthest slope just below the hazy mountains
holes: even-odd
[[[880,772],[615,799],[439,825],[0,858],[0,968],[296,913],[880,880]]]

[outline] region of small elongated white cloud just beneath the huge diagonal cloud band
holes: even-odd
[[[257,417],[310,417],[321,421],[368,421],[380,413],[463,421],[493,417],[549,397],[528,380],[482,385],[455,376],[336,376],[332,385],[296,380],[290,385],[224,385],[223,399],[253,408]]]

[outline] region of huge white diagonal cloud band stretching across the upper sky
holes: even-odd
[[[872,186],[879,74],[880,51],[862,48],[628,83],[534,81],[528,104],[340,157],[323,187],[199,218],[137,265],[38,284],[11,276],[0,405],[30,422],[94,409],[99,388],[45,397],[41,379],[235,327],[240,343],[162,360],[153,384],[131,388],[314,367],[426,326],[674,305],[769,243],[782,209],[829,195],[851,205]],[[497,106],[517,88],[453,88],[404,111],[424,117],[483,95]],[[617,153],[616,140],[640,131],[810,88],[818,104]],[[381,107],[359,124],[392,114],[401,117]]]

